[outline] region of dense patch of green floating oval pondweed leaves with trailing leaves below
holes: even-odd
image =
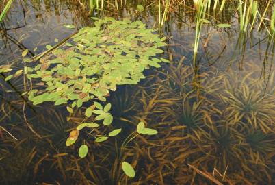
[[[75,143],[79,130],[84,127],[112,123],[109,113],[112,105],[104,103],[109,90],[116,90],[117,85],[137,84],[145,78],[144,69],[168,62],[156,57],[163,52],[159,47],[166,45],[165,38],[153,34],[155,30],[147,29],[141,21],[104,18],[94,25],[80,29],[62,47],[41,58],[36,66],[25,68],[28,79],[39,79],[44,84],[27,93],[34,105],[45,101],[53,101],[56,106],[67,104],[70,113],[75,107],[88,105],[86,118],[70,132],[66,141],[68,146]],[[103,134],[95,141],[103,142],[113,135]],[[87,152],[87,146],[83,145],[79,156],[85,157]]]

